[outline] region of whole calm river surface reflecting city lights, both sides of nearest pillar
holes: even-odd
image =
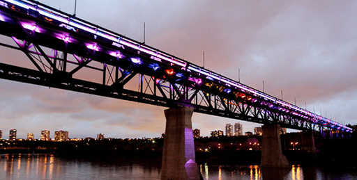
[[[345,180],[357,179],[357,168],[321,168],[293,165],[288,170],[264,170],[259,165],[199,164],[205,180]],[[68,159],[53,154],[0,155],[0,179],[148,179],[160,180],[160,162],[102,162]]]

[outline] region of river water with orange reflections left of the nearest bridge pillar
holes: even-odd
[[[63,159],[53,154],[0,155],[1,180],[160,179],[158,163],[102,163]]]

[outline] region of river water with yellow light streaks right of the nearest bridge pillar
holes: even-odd
[[[259,165],[207,165],[201,166],[205,180],[344,180],[357,179],[354,168],[317,168],[292,165],[289,169],[263,168]]]

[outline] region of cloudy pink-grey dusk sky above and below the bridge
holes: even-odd
[[[74,13],[74,0],[40,0]],[[342,124],[357,124],[357,1],[77,0],[76,16]],[[0,36],[0,42],[9,42]],[[28,65],[0,47],[0,62]],[[238,75],[238,69],[240,74]],[[159,137],[165,108],[0,79],[0,129],[8,138],[61,129],[70,138]],[[225,124],[254,124],[194,113],[209,136]]]

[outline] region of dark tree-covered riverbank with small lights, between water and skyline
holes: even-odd
[[[351,138],[315,136],[316,152],[301,151],[299,133],[282,135],[283,154],[291,164],[357,166],[354,152],[357,141]],[[291,146],[291,142],[297,145]],[[151,139],[87,139],[82,141],[46,142],[18,141],[3,143],[0,154],[56,154],[73,159],[94,161],[149,159],[161,161],[164,138]],[[6,145],[6,146],[4,146]],[[197,163],[218,165],[260,165],[261,136],[195,138]]]

